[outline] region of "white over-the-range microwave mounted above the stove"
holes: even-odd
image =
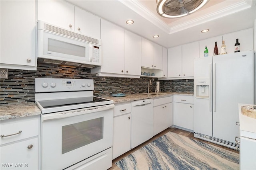
[[[37,57],[42,63],[93,68],[101,66],[101,40],[38,21]]]

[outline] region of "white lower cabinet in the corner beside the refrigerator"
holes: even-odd
[[[173,125],[193,131],[193,96],[173,96]]]

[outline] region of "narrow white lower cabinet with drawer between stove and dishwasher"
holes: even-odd
[[[112,159],[131,149],[131,102],[115,104]]]

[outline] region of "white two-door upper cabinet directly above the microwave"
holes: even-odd
[[[39,0],[38,20],[100,39],[100,18],[66,1]]]

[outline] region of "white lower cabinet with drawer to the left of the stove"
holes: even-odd
[[[1,170],[40,169],[38,162],[39,125],[39,116],[1,121]]]

